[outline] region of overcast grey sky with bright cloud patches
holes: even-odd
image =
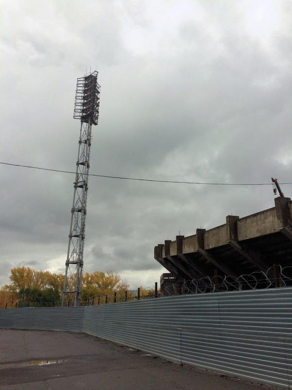
[[[91,67],[91,173],[292,181],[290,0],[1,0],[1,14],[0,161],[75,170],[75,84]],[[16,266],[64,272],[74,175],[0,175],[0,285]],[[152,287],[157,243],[273,206],[270,186],[91,177],[84,272]]]

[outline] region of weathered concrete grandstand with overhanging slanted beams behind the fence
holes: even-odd
[[[266,272],[273,264],[292,265],[292,201],[279,196],[275,206],[242,218],[227,215],[223,225],[177,235],[154,249],[155,259],[170,273],[161,286],[215,275],[238,277]]]

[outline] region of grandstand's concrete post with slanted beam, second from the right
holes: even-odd
[[[261,271],[267,271],[268,264],[264,261],[261,254],[258,252],[252,251],[248,248],[245,248],[239,244],[237,239],[237,220],[239,216],[237,215],[227,215],[226,216],[226,230],[227,230],[227,243],[235,249],[241,256],[253,263]]]

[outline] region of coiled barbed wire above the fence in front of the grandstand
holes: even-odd
[[[183,280],[164,287],[162,295],[197,294],[206,292],[224,292],[269,289],[273,287],[292,286],[292,266],[270,267],[266,273],[256,271],[249,274],[235,276],[216,275],[200,279]]]

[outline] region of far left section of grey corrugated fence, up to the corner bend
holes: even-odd
[[[82,332],[84,307],[0,310],[0,328]]]

